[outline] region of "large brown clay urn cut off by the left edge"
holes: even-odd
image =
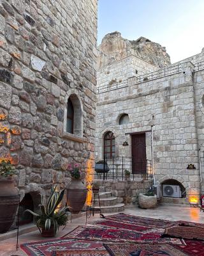
[[[15,220],[18,200],[14,180],[0,176],[0,233],[8,231]]]

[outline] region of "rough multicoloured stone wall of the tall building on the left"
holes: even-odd
[[[0,3],[0,157],[17,168],[24,193],[69,182],[67,164],[94,161],[96,0]],[[64,131],[74,93],[81,136]],[[90,163],[89,163],[90,166]]]

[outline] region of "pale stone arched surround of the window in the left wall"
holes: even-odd
[[[66,131],[67,125],[67,112],[68,112],[68,99],[71,100],[74,108],[74,118],[73,118],[73,135],[83,137],[83,103],[78,91],[76,89],[71,89],[66,93],[64,98],[64,132]]]

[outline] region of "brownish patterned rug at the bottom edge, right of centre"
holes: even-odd
[[[104,244],[111,256],[187,256],[170,244]]]

